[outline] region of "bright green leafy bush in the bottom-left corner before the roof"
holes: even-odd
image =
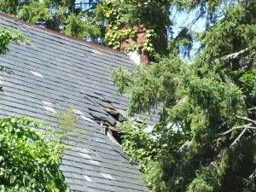
[[[27,118],[0,119],[1,191],[67,191],[60,171],[65,145],[38,132],[42,126]]]

